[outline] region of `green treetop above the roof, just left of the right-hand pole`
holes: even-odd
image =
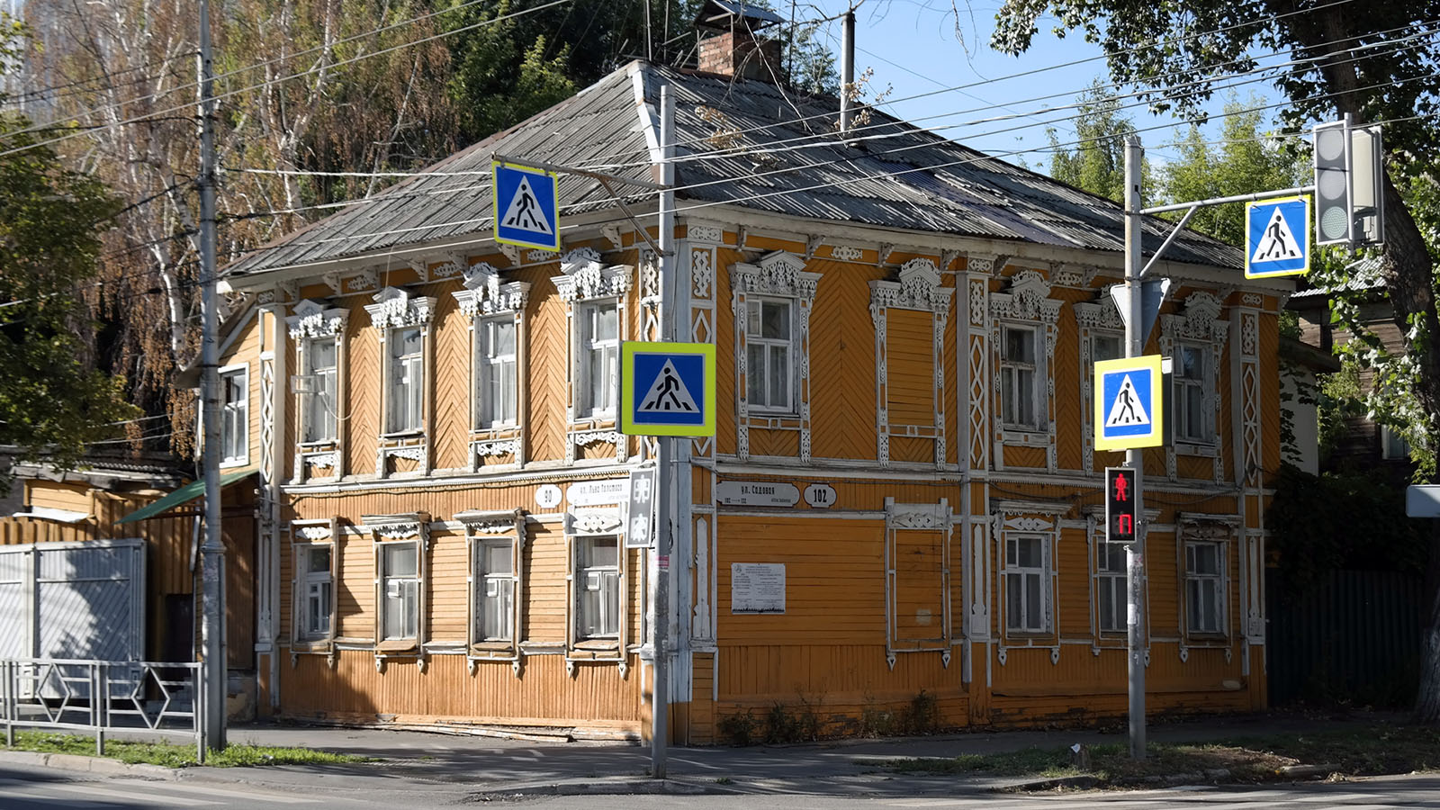
[[[1094,79],[1076,97],[1076,133],[1068,144],[1060,141],[1060,133],[1050,127],[1050,176],[1061,183],[1100,195],[1115,202],[1125,202],[1125,140],[1135,134],[1135,123],[1120,114],[1120,99],[1115,89]],[[1140,166],[1142,195],[1153,196],[1151,166]]]

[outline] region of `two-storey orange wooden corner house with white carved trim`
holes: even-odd
[[[636,229],[655,195],[626,213],[577,173],[559,254],[494,242],[494,154],[657,180],[661,85],[668,264]],[[1097,520],[1122,454],[1090,424],[1120,212],[878,111],[841,138],[834,104],[635,62],[228,268],[262,712],[639,738],[665,621],[677,741],[776,705],[825,734],[1123,715],[1125,555]],[[1189,232],[1156,272],[1175,437],[1146,453],[1148,706],[1259,709],[1289,285]],[[720,368],[662,572],[626,548],[657,448],[619,434],[615,382],[661,306]]]

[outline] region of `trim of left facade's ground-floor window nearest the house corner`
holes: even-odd
[[[619,591],[619,633],[615,638],[582,638],[579,633],[580,621],[580,543],[592,539],[615,539],[618,559]],[[618,663],[621,677],[628,670],[628,647],[631,633],[631,598],[629,598],[629,549],[625,548],[624,523],[619,506],[582,507],[566,513],[564,519],[564,555],[566,555],[566,615],[564,615],[564,662],[566,672],[573,676],[576,666],[589,662]]]

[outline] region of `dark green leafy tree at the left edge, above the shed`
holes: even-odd
[[[0,115],[0,135],[29,125]],[[120,422],[137,414],[124,380],[96,370],[81,339],[92,326],[82,282],[95,277],[101,232],[118,209],[50,150],[0,157],[0,444],[16,447],[20,461],[73,468],[91,442],[121,435]],[[9,486],[0,479],[0,490]]]

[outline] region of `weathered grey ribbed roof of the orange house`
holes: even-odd
[[[1122,251],[1119,205],[878,110],[871,108],[870,123],[842,140],[835,133],[834,98],[632,62],[418,177],[242,257],[225,274],[233,278],[467,235],[482,239],[491,229],[494,154],[654,180],[645,137],[651,115],[636,110],[639,104],[655,110],[662,84],[675,97],[680,213],[697,205],[730,205],[831,222]],[[733,143],[726,143],[727,135]],[[569,216],[615,206],[596,180],[579,174],[562,174],[559,193]],[[1146,244],[1159,245],[1171,228],[1146,218]],[[1194,231],[1175,239],[1166,259],[1243,267],[1237,248]]]

